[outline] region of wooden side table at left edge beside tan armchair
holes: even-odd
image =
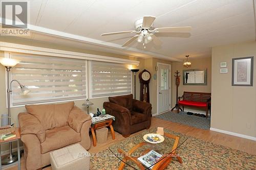
[[[17,152],[18,152],[18,170],[20,170],[20,150],[19,150],[19,139],[20,139],[20,129],[16,128],[15,130],[16,137],[10,138],[8,140],[1,140],[0,139],[0,170],[2,170],[2,160],[1,160],[1,144],[7,143],[7,142],[13,142],[17,141]]]

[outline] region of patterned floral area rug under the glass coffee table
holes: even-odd
[[[166,169],[256,169],[256,155],[233,150],[219,144],[207,142],[178,132],[164,130],[167,133],[180,136],[179,143],[187,140],[177,150],[183,163],[180,164],[174,159],[166,167]],[[142,133],[124,139],[118,146],[122,149],[122,145],[131,144],[133,138],[142,138],[144,134],[155,133],[156,128],[145,130]],[[170,146],[171,147],[171,146]],[[171,148],[166,148],[171,149]],[[103,150],[97,154],[91,155],[90,169],[118,169],[120,160],[109,150]],[[134,169],[125,165],[124,169]]]

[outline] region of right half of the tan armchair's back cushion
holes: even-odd
[[[74,107],[74,102],[55,104],[54,119],[55,127],[67,126],[69,113]]]

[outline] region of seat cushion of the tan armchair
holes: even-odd
[[[81,141],[80,133],[69,126],[57,127],[46,131],[46,140],[41,143],[41,154],[66,147]]]

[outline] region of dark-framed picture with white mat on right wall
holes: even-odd
[[[252,86],[253,58],[243,57],[232,59],[232,86]]]

